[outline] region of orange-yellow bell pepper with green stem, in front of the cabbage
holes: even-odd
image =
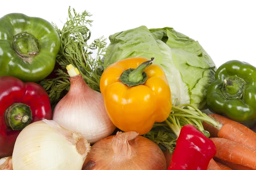
[[[166,75],[159,65],[152,64],[153,60],[141,57],[120,60],[108,66],[100,79],[100,91],[108,116],[116,127],[125,132],[148,133],[154,122],[165,121],[172,110]],[[148,65],[142,68],[144,63]],[[129,74],[125,76],[126,71],[130,73],[134,69],[139,69],[139,74],[133,72],[131,81],[125,80],[129,77]],[[141,74],[143,80],[137,79]]]

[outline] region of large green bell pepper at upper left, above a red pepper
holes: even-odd
[[[55,66],[58,32],[48,21],[20,13],[0,18],[0,76],[38,82]]]

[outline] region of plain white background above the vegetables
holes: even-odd
[[[3,2],[2,2],[3,1]],[[256,66],[254,0],[2,0],[0,17],[18,12],[62,28],[68,7],[93,16],[91,41],[145,25],[172,27],[198,40],[217,67],[238,59]],[[109,42],[109,41],[108,41]]]

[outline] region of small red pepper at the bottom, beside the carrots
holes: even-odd
[[[207,170],[216,154],[215,144],[193,125],[180,130],[168,170]]]

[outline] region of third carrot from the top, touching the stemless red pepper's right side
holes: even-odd
[[[239,136],[238,136],[239,137]],[[216,148],[215,157],[256,170],[256,151],[224,138],[210,138]]]

